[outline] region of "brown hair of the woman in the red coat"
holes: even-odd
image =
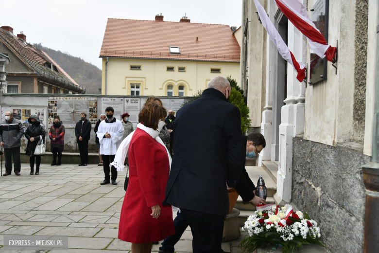
[[[167,111],[163,106],[156,103],[145,103],[145,106],[138,114],[138,121],[145,127],[151,127],[156,130],[159,120],[165,118],[166,115]]]

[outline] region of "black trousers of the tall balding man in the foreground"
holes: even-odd
[[[224,216],[180,209],[192,231],[193,253],[220,253]]]

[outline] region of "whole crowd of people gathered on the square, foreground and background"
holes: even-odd
[[[128,181],[121,208],[119,239],[132,243],[132,253],[151,252],[160,240],[159,253],[174,253],[174,246],[188,226],[193,235],[193,252],[220,253],[224,217],[231,212],[240,195],[244,202],[265,204],[255,195],[256,187],[244,168],[246,157],[257,156],[266,146],[260,133],[241,132],[239,108],[228,103],[230,83],[212,78],[196,101],[182,107],[176,117],[150,96],[138,115],[134,129],[129,114],[118,120],[107,107],[94,128],[99,166],[103,165],[101,185],[117,184],[118,171],[127,168]],[[207,117],[198,117],[201,111]],[[44,143],[45,128],[37,115],[29,118],[25,131],[26,154],[30,156],[31,175],[39,174],[41,157],[34,154],[37,142]],[[80,166],[88,163],[91,124],[86,113],[76,124]],[[0,126],[0,145],[4,146],[6,173],[20,175],[20,121],[5,113]],[[60,165],[65,127],[58,115],[49,131],[52,165]],[[18,157],[17,157],[18,156]],[[56,158],[58,157],[58,161]],[[172,210],[179,210],[172,220]]]

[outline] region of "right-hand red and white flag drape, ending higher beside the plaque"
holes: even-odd
[[[275,0],[283,14],[308,38],[310,53],[333,62],[336,48],[327,44],[325,37],[310,20],[307,9],[299,0]],[[259,16],[260,17],[260,16]]]

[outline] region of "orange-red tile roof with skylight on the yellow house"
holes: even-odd
[[[198,40],[196,40],[198,37]],[[178,46],[180,54],[170,54]],[[228,25],[108,18],[100,57],[240,62]]]

